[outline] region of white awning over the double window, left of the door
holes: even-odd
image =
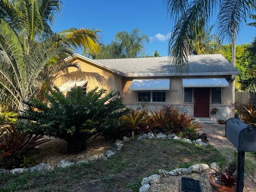
[[[132,91],[170,90],[170,79],[134,79],[130,85]]]

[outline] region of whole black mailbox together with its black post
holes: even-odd
[[[237,149],[236,192],[244,189],[244,156],[245,152],[256,152],[256,129],[237,118],[226,122],[225,136]]]

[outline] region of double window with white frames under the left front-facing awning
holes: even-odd
[[[138,102],[166,102],[165,91],[140,91]]]

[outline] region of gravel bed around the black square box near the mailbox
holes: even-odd
[[[210,183],[208,182],[209,171],[205,171],[201,174],[192,173],[190,175],[183,176],[170,176],[167,178],[161,178],[160,183],[151,185],[150,192],[180,192],[180,180],[182,177],[188,177],[200,180],[202,192],[212,192]],[[249,192],[244,189],[244,192]]]

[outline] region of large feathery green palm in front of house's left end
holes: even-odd
[[[68,66],[78,67],[69,63],[46,67],[51,58],[72,54],[59,34],[37,41],[29,40],[28,35],[19,36],[5,20],[0,19],[0,103],[11,103],[14,110],[24,109],[22,101],[35,97],[42,83],[52,74]]]

